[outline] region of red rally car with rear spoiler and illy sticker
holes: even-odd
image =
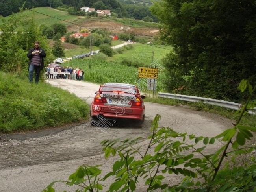
[[[143,99],[135,85],[126,83],[105,83],[95,92],[91,103],[91,117],[97,119],[100,115],[106,119],[135,119],[140,123],[145,118]]]

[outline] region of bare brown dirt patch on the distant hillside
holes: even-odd
[[[112,35],[116,35],[117,33],[132,33],[135,35],[141,35],[141,36],[148,36],[153,37],[155,35],[158,35],[159,29],[158,28],[133,28],[123,24],[119,24],[116,22],[111,21],[89,21],[89,22],[82,22],[80,26],[68,26],[67,30],[70,32],[79,32],[79,30],[82,28],[81,26],[85,26],[89,29],[103,29],[111,32]],[[83,28],[82,28],[83,29]]]

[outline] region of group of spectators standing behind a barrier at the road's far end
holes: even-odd
[[[71,80],[83,80],[84,71],[79,68],[70,67],[57,67],[57,66],[48,66],[46,68],[49,79],[71,79]],[[58,72],[53,74],[52,72]],[[64,73],[65,74],[60,74]]]

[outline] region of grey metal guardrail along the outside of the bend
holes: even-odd
[[[170,98],[170,99],[177,99],[177,100],[183,100],[188,102],[203,102],[205,104],[209,105],[218,105],[220,107],[225,107],[228,109],[234,109],[239,110],[243,107],[242,104],[234,103],[234,102],[226,102],[223,100],[217,100],[217,99],[210,99],[210,98],[204,98],[204,97],[196,97],[196,96],[188,96],[188,95],[179,95],[179,94],[171,94],[171,93],[158,93],[159,97],[164,98]],[[249,114],[256,114],[256,107],[248,111]]]

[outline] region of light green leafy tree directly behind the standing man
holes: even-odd
[[[45,62],[51,59],[50,47],[45,36],[32,15],[24,19],[21,15],[11,15],[2,18],[0,24],[0,70],[11,73],[20,73],[28,71],[28,58],[26,54],[33,47],[34,41],[39,41],[40,46],[47,53]]]

